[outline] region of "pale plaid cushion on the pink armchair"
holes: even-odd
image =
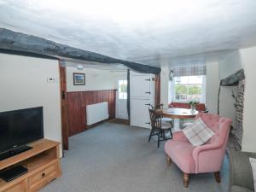
[[[196,119],[193,124],[184,128],[183,133],[194,146],[207,143],[214,135],[214,132],[207,127],[201,118]]]

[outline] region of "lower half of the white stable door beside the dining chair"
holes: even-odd
[[[151,128],[148,108],[149,99],[131,99],[131,125]]]

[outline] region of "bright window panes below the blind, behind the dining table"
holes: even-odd
[[[172,81],[173,102],[205,102],[205,75],[174,77]]]

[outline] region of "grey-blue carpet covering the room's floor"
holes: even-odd
[[[104,123],[70,138],[61,159],[62,177],[42,192],[226,192],[228,162],[222,183],[213,174],[192,175],[183,188],[182,172],[166,166],[163,143],[148,143],[148,129]],[[210,163],[210,162],[209,162]]]

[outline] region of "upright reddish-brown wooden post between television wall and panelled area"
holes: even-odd
[[[61,132],[63,149],[68,150],[67,80],[66,67],[60,66],[61,80]]]

